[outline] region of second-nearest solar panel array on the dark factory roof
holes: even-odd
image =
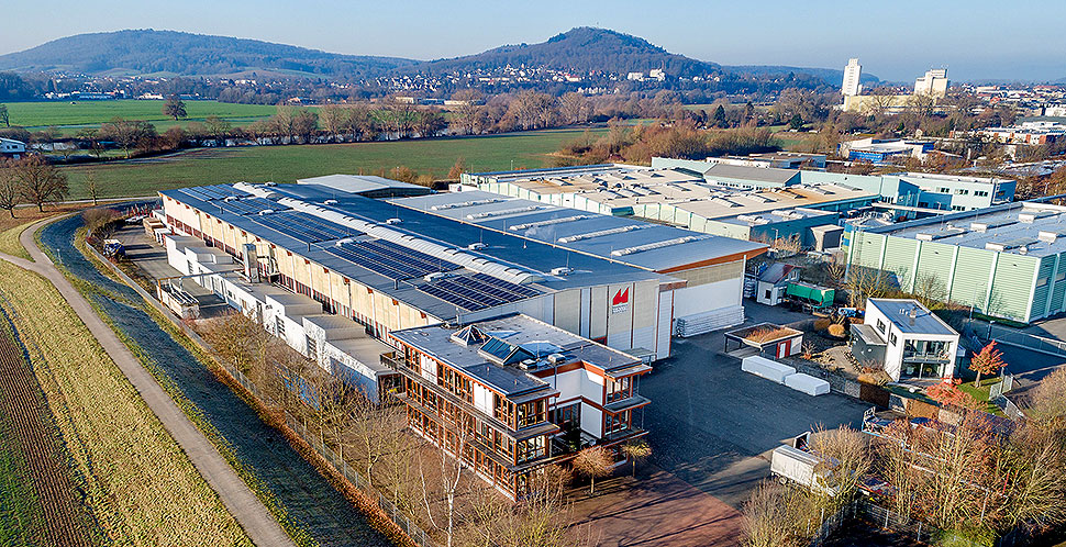
[[[323,250],[390,279],[459,269],[456,264],[384,239],[343,243]]]

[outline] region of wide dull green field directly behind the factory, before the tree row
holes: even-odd
[[[606,130],[592,130],[602,134]],[[355,144],[204,148],[163,157],[64,167],[69,199],[86,198],[85,176],[92,171],[101,197],[152,196],[157,190],[227,182],[293,182],[336,172],[379,175],[410,167],[437,178],[456,158],[469,171],[544,167],[549,153],[584,130],[545,130],[480,137],[434,138]]]

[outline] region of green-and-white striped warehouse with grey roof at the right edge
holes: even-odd
[[[1035,202],[850,234],[848,268],[885,271],[908,292],[1031,322],[1066,311],[1066,208]]]

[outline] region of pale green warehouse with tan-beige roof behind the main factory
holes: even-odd
[[[464,175],[460,189],[476,186],[502,196],[739,239],[796,239],[804,247],[815,241],[812,228],[834,225],[837,212],[878,199],[875,192],[843,185],[791,183],[800,172],[714,164],[696,176],[676,168],[589,166]]]

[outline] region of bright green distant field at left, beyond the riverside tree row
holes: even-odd
[[[186,101],[188,118],[178,122],[163,114],[164,101],[37,101],[9,102],[8,114],[11,125],[22,125],[30,131],[55,125],[65,134],[80,127],[96,127],[115,116],[153,122],[160,132],[167,127],[182,125],[192,121],[203,121],[216,115],[234,125],[245,125],[269,116],[276,107],[265,104],[232,104],[219,101]]]

